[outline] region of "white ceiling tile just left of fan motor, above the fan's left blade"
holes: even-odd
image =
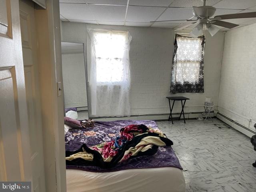
[[[193,16],[192,8],[168,8],[161,16],[158,21],[161,20],[184,20],[189,19]],[[177,21],[174,21],[177,23]]]

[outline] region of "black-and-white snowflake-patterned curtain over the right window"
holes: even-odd
[[[204,92],[204,40],[176,34],[170,93]]]

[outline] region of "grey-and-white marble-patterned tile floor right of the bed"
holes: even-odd
[[[174,142],[186,192],[256,192],[256,151],[248,136],[218,119],[157,124]]]

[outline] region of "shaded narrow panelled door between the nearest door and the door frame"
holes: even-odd
[[[34,192],[45,192],[44,151],[34,2],[19,0]]]

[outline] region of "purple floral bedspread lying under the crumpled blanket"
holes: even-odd
[[[94,146],[101,142],[108,142],[119,135],[119,130],[130,124],[144,124],[151,128],[158,129],[154,121],[120,120],[111,122],[95,122],[95,127],[86,129],[71,129],[65,136],[66,150],[78,150],[86,143],[87,146]],[[172,139],[172,138],[170,138]],[[111,169],[102,169],[96,166],[66,166],[67,169],[80,169],[90,172],[113,172],[134,168],[155,168],[155,167],[176,167],[182,169],[180,162],[172,147],[159,147],[156,154],[151,156],[140,156],[119,163]]]

